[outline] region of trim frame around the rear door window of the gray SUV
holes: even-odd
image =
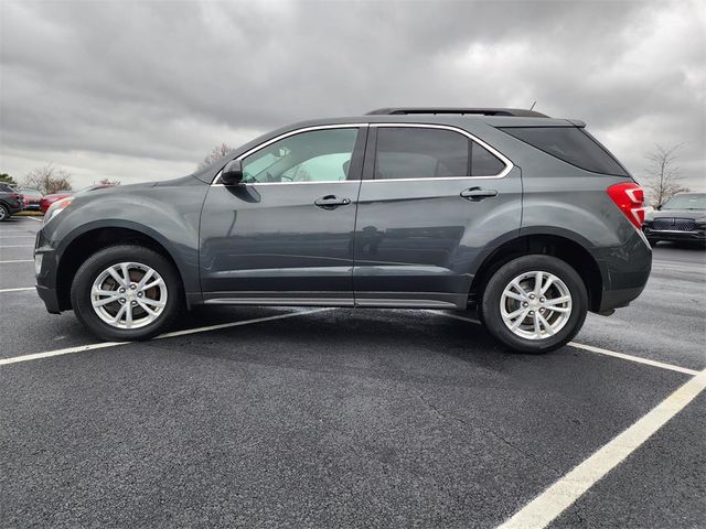
[[[407,122],[397,122],[397,123],[370,123],[370,128],[371,128],[371,139],[374,141],[370,141],[368,140],[368,144],[367,144],[367,151],[371,151],[371,155],[367,155],[366,153],[366,168],[367,170],[365,171],[364,175],[363,175],[363,180],[366,182],[435,182],[435,181],[445,181],[445,180],[469,180],[469,179],[474,179],[474,180],[486,180],[486,179],[504,179],[505,176],[507,176],[507,174],[513,170],[513,168],[515,166],[512,161],[505,156],[503,153],[501,153],[500,151],[498,151],[495,148],[489,145],[488,143],[485,143],[483,140],[479,139],[478,137],[471,134],[469,131],[463,130],[459,127],[453,127],[451,125],[437,125],[437,123],[407,123]],[[493,154],[495,158],[498,158],[505,166],[502,171],[500,171],[496,174],[491,174],[491,175],[479,175],[479,176],[435,176],[432,179],[428,179],[428,177],[417,177],[417,179],[375,179],[374,177],[374,166],[371,166],[371,161],[373,162],[373,164],[375,163],[374,159],[374,154],[377,151],[377,130],[378,128],[402,128],[402,129],[441,129],[441,130],[450,130],[452,132],[458,132],[461,136],[467,137],[469,140],[474,141],[475,143],[478,143],[479,145],[483,147],[484,149],[486,149],[491,154]],[[469,145],[469,156],[472,153],[472,147]],[[469,162],[470,163],[470,162]],[[470,173],[470,171],[469,171]]]

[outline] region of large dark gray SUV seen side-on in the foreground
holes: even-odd
[[[36,238],[36,288],[106,339],[149,338],[204,303],[477,309],[539,353],[642,292],[642,204],[580,121],[382,109],[62,201]]]

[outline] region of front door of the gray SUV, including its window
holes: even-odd
[[[352,305],[353,231],[367,129],[323,127],[242,158],[201,217],[206,303]]]

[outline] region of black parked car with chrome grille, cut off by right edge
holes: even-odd
[[[648,214],[642,229],[653,246],[661,240],[706,244],[706,193],[677,193]]]

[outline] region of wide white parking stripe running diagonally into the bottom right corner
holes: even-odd
[[[646,415],[530,501],[498,529],[542,529],[547,527],[584,493],[682,411],[705,388],[706,370],[703,370],[654,407]]]

